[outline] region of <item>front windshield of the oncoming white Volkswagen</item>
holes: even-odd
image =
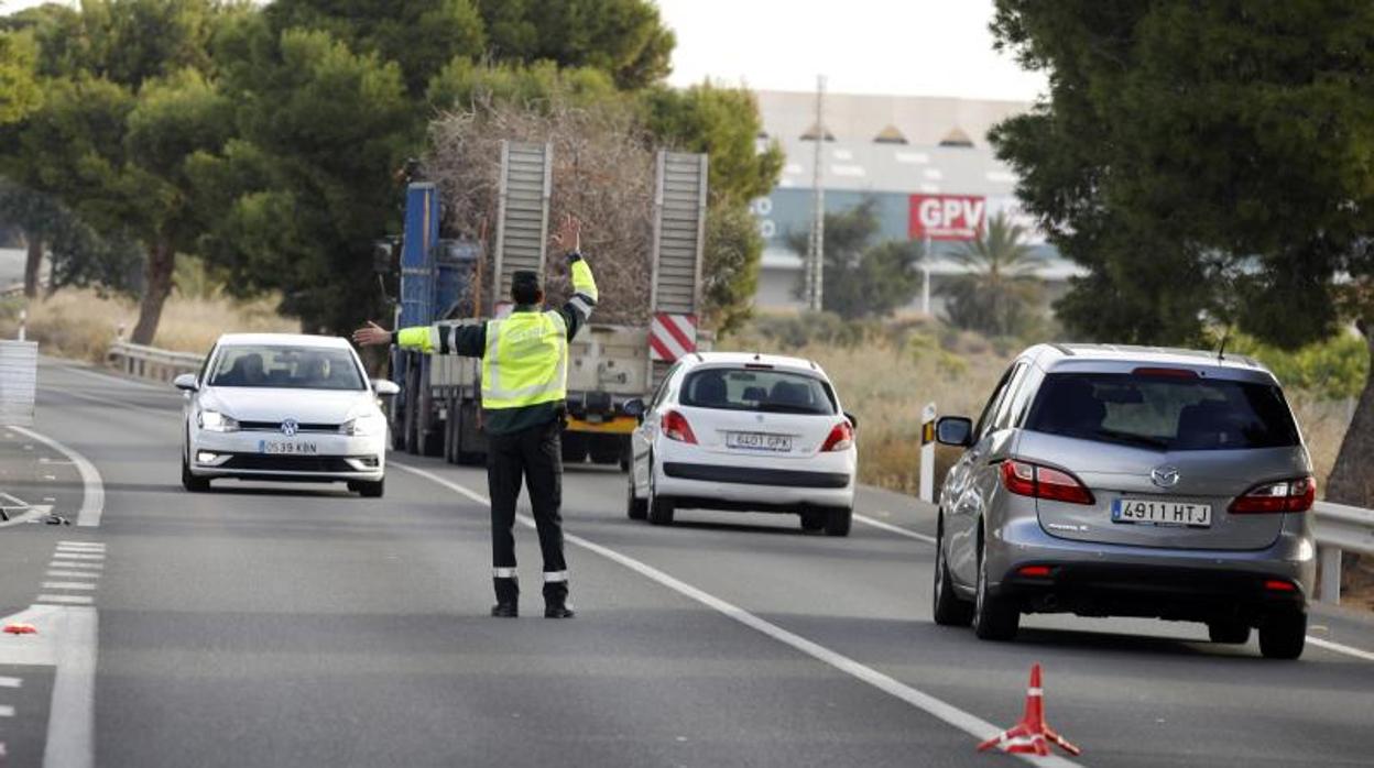
[[[267,345],[221,349],[210,372],[210,386],[365,389],[348,349]]]

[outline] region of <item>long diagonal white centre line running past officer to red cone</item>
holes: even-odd
[[[477,493],[475,490],[469,490],[467,488],[463,488],[462,485],[458,485],[456,482],[444,479],[444,478],[441,478],[441,477],[438,477],[438,475],[436,475],[433,473],[429,473],[426,470],[420,470],[418,467],[411,467],[411,466],[407,466],[407,464],[401,464],[398,462],[390,462],[390,466],[400,467],[400,468],[403,468],[403,470],[405,470],[408,473],[416,474],[416,475],[423,477],[423,478],[426,478],[429,481],[433,481],[433,482],[436,482],[438,485],[442,485],[444,488],[448,488],[449,490],[453,490],[456,493],[467,496],[469,499],[471,499],[471,500],[474,500],[474,501],[477,501],[480,504],[489,504],[489,501],[486,500],[486,497],[482,496],[482,495],[480,495],[480,493]],[[517,519],[525,528],[534,528],[534,521],[529,515],[517,515]],[[609,561],[611,561],[614,563],[622,565],[622,566],[628,567],[629,570],[633,570],[635,573],[638,573],[638,574],[640,574],[640,576],[643,576],[643,577],[646,577],[646,578],[649,578],[651,581],[657,581],[658,584],[661,584],[664,587],[668,587],[669,589],[672,589],[673,592],[677,592],[679,595],[683,595],[686,598],[697,600],[698,603],[701,603],[701,605],[703,605],[703,606],[706,606],[706,607],[709,607],[709,609],[712,609],[712,610],[714,610],[714,611],[717,611],[717,613],[720,613],[720,614],[723,614],[723,615],[725,615],[725,617],[728,617],[728,618],[731,618],[734,621],[738,621],[739,624],[743,624],[745,626],[749,626],[750,629],[761,632],[761,633],[767,635],[768,637],[771,637],[774,640],[778,640],[779,643],[782,643],[785,646],[789,646],[789,647],[791,647],[791,648],[794,648],[797,651],[801,651],[801,653],[804,653],[804,654],[815,658],[816,661],[827,664],[827,665],[838,669],[840,672],[844,672],[845,675],[849,675],[849,676],[852,676],[852,677],[855,677],[857,680],[861,680],[861,681],[864,681],[864,683],[867,683],[867,684],[870,684],[870,686],[872,686],[872,687],[875,687],[875,688],[878,688],[878,690],[881,690],[881,691],[883,691],[886,694],[890,694],[890,695],[893,695],[893,697],[896,697],[896,698],[899,698],[899,699],[910,703],[911,706],[915,706],[916,709],[921,709],[922,712],[925,712],[925,713],[927,713],[927,714],[930,714],[933,717],[944,720],[949,725],[954,725],[955,728],[959,728],[960,731],[969,734],[970,736],[973,736],[973,738],[976,738],[978,741],[989,739],[989,738],[996,736],[998,734],[1002,732],[1002,728],[998,728],[992,723],[988,723],[987,720],[982,720],[981,717],[978,717],[976,714],[965,712],[965,710],[962,710],[962,709],[959,709],[959,708],[948,703],[948,702],[944,702],[941,699],[937,699],[936,697],[933,697],[933,695],[930,695],[930,694],[927,694],[925,691],[912,688],[911,686],[907,686],[905,683],[901,683],[901,681],[896,680],[894,677],[883,675],[882,672],[878,672],[877,669],[872,669],[870,666],[864,666],[863,664],[860,664],[860,662],[857,662],[857,661],[855,661],[855,659],[852,659],[849,657],[845,657],[842,654],[838,654],[838,653],[835,653],[835,651],[833,651],[833,650],[830,650],[830,648],[827,648],[827,647],[824,647],[824,646],[822,646],[819,643],[813,643],[813,642],[811,642],[811,640],[808,640],[808,639],[805,639],[805,637],[802,637],[800,635],[794,635],[793,632],[789,632],[789,631],[783,629],[782,626],[778,626],[776,624],[772,624],[771,621],[760,618],[760,617],[757,617],[757,615],[754,615],[754,614],[752,614],[752,613],[749,613],[749,611],[746,611],[746,610],[743,610],[743,609],[741,609],[741,607],[738,607],[735,605],[727,603],[725,600],[721,600],[720,598],[717,598],[717,596],[714,596],[714,595],[712,595],[709,592],[705,592],[702,589],[698,589],[697,587],[692,587],[691,584],[687,584],[686,581],[680,581],[680,580],[677,580],[677,578],[675,578],[672,576],[668,576],[666,573],[664,573],[664,572],[661,572],[661,570],[658,570],[658,569],[655,569],[655,567],[653,567],[650,565],[646,565],[646,563],[643,563],[640,561],[636,561],[635,558],[631,558],[628,555],[622,555],[622,554],[620,554],[620,552],[617,552],[617,551],[614,551],[614,550],[611,550],[609,547],[602,547],[600,544],[596,544],[594,541],[583,539],[581,536],[565,534],[563,539],[569,544],[573,544],[576,547],[581,547],[583,550],[587,550],[589,552],[595,552],[595,554],[598,554],[598,555],[600,555],[600,556],[603,556],[603,558],[606,558],[606,559],[609,559]],[[1033,763],[1036,765],[1055,765],[1055,767],[1073,767],[1073,765],[1077,765],[1076,763],[1072,763],[1069,760],[1063,760],[1061,757],[1036,757],[1036,756],[1018,756],[1018,757],[1025,757],[1025,760],[1028,760],[1029,763]]]

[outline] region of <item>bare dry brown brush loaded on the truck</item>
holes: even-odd
[[[425,174],[444,201],[444,228],[486,240],[482,283],[493,279],[502,140],[550,143],[554,150],[550,225],[565,214],[580,218],[583,251],[600,289],[596,320],[649,320],[653,243],[654,153],[633,114],[618,103],[573,106],[561,96],[530,103],[477,98],[430,125]],[[545,260],[551,302],[570,293],[561,254]],[[489,289],[480,289],[489,309]]]

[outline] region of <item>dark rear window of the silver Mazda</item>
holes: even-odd
[[[1158,451],[1298,444],[1275,385],[1143,374],[1050,374],[1026,429]]]

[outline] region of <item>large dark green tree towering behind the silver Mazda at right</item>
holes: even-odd
[[[1352,319],[1374,356],[1374,5],[999,0],[1050,93],[993,132],[1018,195],[1090,276],[1080,334],[1195,342],[1198,317],[1296,348]],[[1117,301],[1127,300],[1127,301]],[[1327,496],[1374,503],[1374,378]]]

